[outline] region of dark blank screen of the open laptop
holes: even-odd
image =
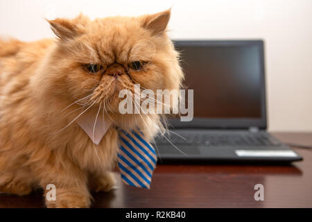
[[[260,47],[175,47],[182,56],[184,85],[194,89],[194,117],[261,117]]]

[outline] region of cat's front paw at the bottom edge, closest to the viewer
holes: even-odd
[[[77,190],[56,189],[55,200],[46,199],[48,208],[88,208],[89,194]]]

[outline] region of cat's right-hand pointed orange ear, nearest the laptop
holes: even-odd
[[[171,8],[164,12],[153,15],[145,15],[143,18],[143,27],[158,35],[166,30],[171,14]]]

